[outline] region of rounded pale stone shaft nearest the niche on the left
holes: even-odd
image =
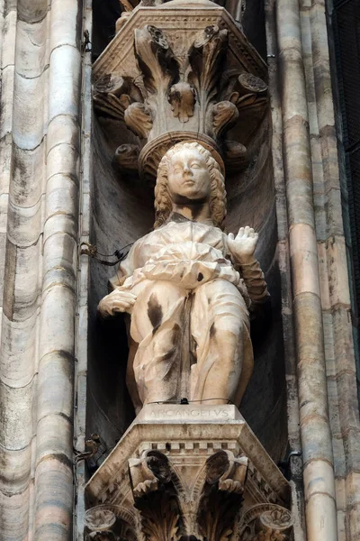
[[[52,0],[35,466],[36,541],[72,523],[73,381],[81,54],[76,0]]]

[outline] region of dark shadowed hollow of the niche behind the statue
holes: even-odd
[[[248,9],[251,11],[246,12],[246,17],[244,15],[248,32],[253,32],[253,42],[262,50],[265,32],[264,17],[262,13],[259,15],[261,2],[248,2]],[[118,15],[118,0],[94,2],[93,43],[97,54],[112,38]],[[264,48],[262,52],[265,52]],[[103,131],[104,124],[107,135]],[[234,132],[232,138],[236,139]],[[153,224],[152,188],[136,176],[121,177],[114,167],[113,153],[124,142],[134,142],[134,136],[125,127],[120,131],[112,121],[94,119],[90,242],[102,253],[113,253],[136,241],[147,234]],[[267,117],[249,151],[251,160],[247,170],[228,174],[226,178],[226,228],[228,232],[236,233],[241,225],[251,225],[259,232],[257,258],[266,273],[271,302],[252,322],[255,370],[241,412],[278,462],[287,443],[286,401],[271,127]],[[108,450],[121,438],[134,417],[125,384],[128,346],[124,317],[101,321],[96,316],[97,303],[107,293],[107,281],[115,272],[116,267],[91,261],[86,429],[88,435],[102,436]]]

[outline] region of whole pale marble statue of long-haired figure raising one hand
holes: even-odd
[[[257,233],[225,234],[220,166],[197,142],[166,152],[157,170],[156,222],[121,262],[102,316],[130,315],[127,381],[139,412],[157,401],[239,404],[253,368],[249,310],[266,282]]]

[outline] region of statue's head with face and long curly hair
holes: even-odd
[[[159,227],[173,205],[208,203],[214,225],[226,215],[226,191],[218,162],[198,142],[179,142],[168,150],[157,169],[155,225]]]

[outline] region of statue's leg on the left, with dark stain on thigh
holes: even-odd
[[[133,362],[143,404],[177,399],[186,291],[170,281],[146,280],[137,295],[130,335],[139,344]]]

